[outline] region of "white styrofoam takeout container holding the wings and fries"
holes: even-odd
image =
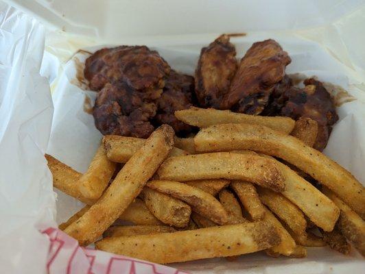
[[[305,38],[335,56],[348,74],[365,79],[365,1],[158,1],[158,0],[12,0],[16,8],[47,27],[46,53],[67,61],[81,47],[144,44],[154,47],[206,45],[217,34],[272,32]],[[362,35],[361,35],[362,34]],[[193,40],[193,42],[191,42]],[[200,51],[200,46],[196,47]],[[58,69],[54,69],[53,78]],[[51,75],[49,75],[51,77]],[[224,265],[222,265],[224,264]],[[228,268],[227,265],[229,264]],[[268,260],[249,255],[237,262],[204,260],[174,266],[194,273],[362,273],[364,263],[322,249],[305,260]]]

